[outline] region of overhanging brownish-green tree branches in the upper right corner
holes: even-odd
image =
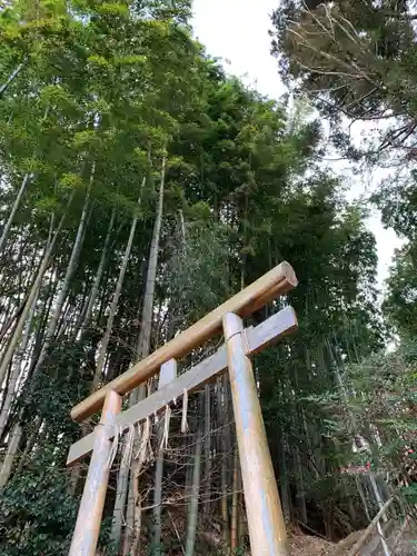
[[[413,2],[390,0],[311,6],[286,0],[274,13],[272,49],[281,76],[332,120],[336,146],[353,159],[364,150],[341,131],[344,117],[384,121],[377,145],[363,146],[371,161],[393,148],[414,158],[414,19]]]

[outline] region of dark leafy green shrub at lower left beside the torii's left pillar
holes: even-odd
[[[70,350],[66,350],[70,368]],[[59,364],[58,354],[54,358]],[[61,359],[61,365],[64,361]],[[70,473],[64,468],[66,453],[77,427],[66,418],[76,391],[68,378],[40,376],[26,398],[28,437],[36,435],[33,455],[22,455],[20,474],[14,475],[0,500],[0,554],[52,555],[67,552],[71,540],[79,497],[70,494]],[[36,411],[42,419],[30,419]]]

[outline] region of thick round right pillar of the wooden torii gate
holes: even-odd
[[[242,319],[224,317],[229,379],[252,556],[288,556],[286,526]]]

